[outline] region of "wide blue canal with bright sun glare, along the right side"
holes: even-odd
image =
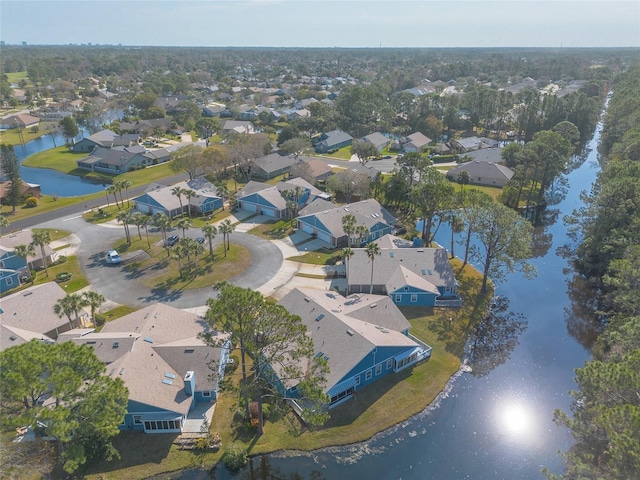
[[[589,359],[593,340],[580,292],[568,287],[572,271],[561,252],[572,241],[562,218],[581,205],[580,192],[595,180],[600,133],[598,125],[536,232],[537,278],[513,274],[498,285],[496,312],[470,342],[469,367],[432,406],[358,445],[256,457],[234,478],[494,480],[544,478],[543,467],[562,472],[558,451],[570,447],[571,437],[553,414],[569,411],[574,369]],[[443,229],[437,240],[449,245],[448,238]],[[220,467],[215,478],[232,475]]]

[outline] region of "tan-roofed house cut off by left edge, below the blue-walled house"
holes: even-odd
[[[0,339],[2,347],[20,345],[33,338],[53,341],[62,333],[80,327],[74,324],[74,318],[70,323],[66,316],[61,318],[53,311],[53,306],[66,294],[56,282],[48,282],[4,297],[0,325],[3,330],[11,332],[10,337],[15,338],[7,341],[3,335]]]

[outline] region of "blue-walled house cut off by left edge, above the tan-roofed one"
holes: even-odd
[[[2,274],[2,290],[4,292],[10,288],[17,287],[20,282],[15,282],[16,278],[26,275],[28,268],[42,268],[42,249],[39,245],[35,246],[35,255],[29,255],[26,261],[15,254],[15,247],[18,245],[28,245],[33,241],[31,230],[21,230],[13,232],[9,235],[0,237],[0,268],[5,272]],[[47,258],[47,264],[55,262],[57,253],[49,245],[44,246],[44,254]],[[11,274],[10,271],[16,272],[17,276]],[[6,289],[5,289],[6,288]]]

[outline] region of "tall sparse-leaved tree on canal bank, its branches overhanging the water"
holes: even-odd
[[[471,252],[483,265],[480,291],[487,291],[489,277],[497,282],[516,270],[526,278],[533,278],[535,267],[527,263],[532,255],[531,224],[500,203],[483,206],[476,215],[475,236],[480,247],[472,248]]]

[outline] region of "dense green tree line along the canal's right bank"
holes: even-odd
[[[555,420],[574,445],[562,479],[640,475],[640,69],[620,75],[604,117],[606,159],[584,207],[567,221],[578,245],[576,275],[600,320],[593,359],[576,370],[571,414]],[[635,131],[634,131],[635,130]],[[549,475],[553,477],[552,475]]]

